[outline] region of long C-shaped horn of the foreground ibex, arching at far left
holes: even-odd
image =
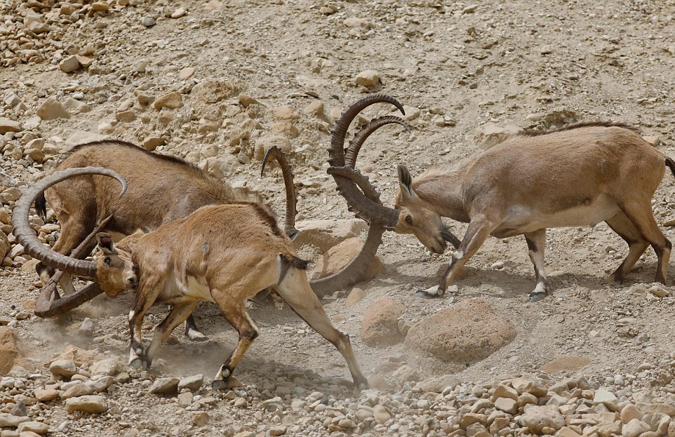
[[[107,168],[81,167],[55,172],[25,189],[19,200],[16,201],[14,212],[12,213],[14,223],[12,231],[29,255],[37,258],[49,267],[66,271],[70,274],[93,277],[96,274],[96,264],[94,262],[78,260],[48,248],[48,246],[39,241],[28,223],[30,206],[43,191],[62,180],[81,175],[114,177],[122,186],[120,196],[124,194],[127,188],[126,180],[118,173]]]

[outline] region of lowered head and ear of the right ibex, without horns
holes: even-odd
[[[413,177],[405,166],[399,165],[399,191],[396,193],[399,220],[394,230],[399,234],[414,234],[432,253],[443,253],[448,247],[448,231],[441,215],[413,189]]]

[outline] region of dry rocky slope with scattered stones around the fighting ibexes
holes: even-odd
[[[419,175],[523,128],[622,121],[675,156],[674,15],[672,0],[1,2],[0,436],[675,436],[675,289],[651,283],[651,249],[606,285],[627,246],[605,224],[549,231],[554,294],[537,304],[523,238],[490,239],[455,293],[416,300],[451,252],[386,234],[386,273],[324,300],[373,389],[354,394],[337,351],[260,299],[239,382],[214,393],[236,342],[215,307],[196,311],[208,342],[176,330],[151,370],[129,370],[133,296],[36,318],[34,260],[9,217],[22,185],[104,137],[247,184],[281,213],[278,170],[259,175],[276,144],[314,229],[300,252],[323,266],[327,246],[363,229],[325,173],[350,103],[382,92],[406,105],[412,133],[384,128],[359,157],[388,205],[396,164]],[[653,199],[671,240],[673,192],[666,175]],[[32,224],[51,243],[47,218]],[[148,338],[165,311],[146,318]]]

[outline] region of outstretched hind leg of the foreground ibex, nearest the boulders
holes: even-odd
[[[286,277],[276,287],[276,291],[288,306],[295,311],[302,320],[307,322],[316,332],[319,332],[323,338],[327,339],[347,361],[349,372],[352,373],[354,386],[356,389],[368,389],[368,379],[363,376],[359,363],[356,363],[352,344],[349,342],[349,336],[340,332],[323,309],[319,298],[312,291],[307,281],[307,274],[304,270],[289,269]]]

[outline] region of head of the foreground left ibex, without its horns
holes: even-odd
[[[98,253],[94,255],[96,263],[96,281],[103,293],[116,296],[138,285],[138,275],[131,262],[131,253],[117,248],[112,236],[100,232],[96,235]]]

